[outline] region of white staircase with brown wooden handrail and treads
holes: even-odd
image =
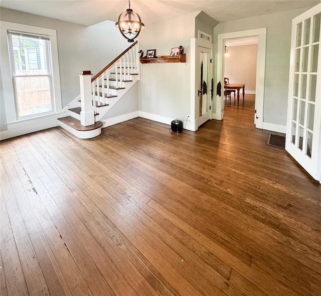
[[[81,71],[80,95],[64,109],[59,126],[81,139],[100,135],[105,114],[139,80],[137,41],[91,77]]]

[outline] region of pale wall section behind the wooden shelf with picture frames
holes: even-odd
[[[195,14],[150,24],[142,31],[139,48],[156,49],[156,55],[170,55],[182,45],[186,63],[141,64],[138,85],[139,110],[170,119],[190,114],[190,39],[195,34]]]

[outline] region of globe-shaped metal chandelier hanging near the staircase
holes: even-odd
[[[130,9],[130,0],[128,0],[128,5],[129,8],[119,15],[115,25],[128,42],[134,42],[145,25],[141,22],[139,15]]]

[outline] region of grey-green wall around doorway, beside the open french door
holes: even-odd
[[[267,28],[263,109],[263,121],[266,123],[286,125],[291,21],[307,9],[224,22],[214,28],[215,41],[221,33]]]

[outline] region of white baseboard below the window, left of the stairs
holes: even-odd
[[[17,122],[8,125],[7,131],[0,132],[0,140],[6,140],[59,126],[57,118],[63,117],[63,113],[54,114],[42,118]]]

